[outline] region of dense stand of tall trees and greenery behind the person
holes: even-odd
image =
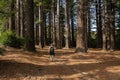
[[[35,51],[120,49],[119,0],[0,0],[0,44]]]

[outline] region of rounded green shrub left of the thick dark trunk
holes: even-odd
[[[0,43],[10,47],[21,48],[24,40],[11,31],[5,31],[0,36]]]

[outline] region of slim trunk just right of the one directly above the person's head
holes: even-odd
[[[61,34],[61,27],[60,27],[60,0],[57,0],[57,48],[61,49],[62,48],[62,34]]]

